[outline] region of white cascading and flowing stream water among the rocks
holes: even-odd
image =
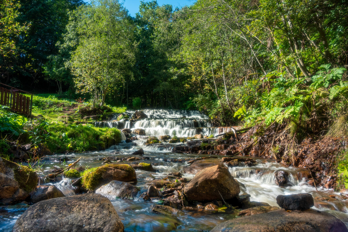
[[[131,114],[132,112],[128,112]],[[115,121],[97,122],[97,126],[110,126],[118,128],[145,129],[147,135],[172,135],[175,130],[177,136],[191,136],[197,134],[197,131],[205,135],[219,134],[227,129],[214,128],[209,123],[205,115],[198,111],[166,111],[166,110],[146,110],[148,119],[130,122],[123,120],[123,124]],[[118,115],[115,115],[117,118]],[[183,117],[186,118],[183,118]],[[195,122],[196,121],[196,122]],[[204,128],[204,130],[203,130]],[[208,129],[206,129],[208,128]],[[206,130],[206,131],[205,131]],[[190,133],[188,131],[191,131]],[[193,133],[193,131],[195,131]],[[202,132],[205,131],[205,132]],[[80,154],[69,154],[74,156],[72,160],[66,163],[60,163],[58,160],[48,160],[42,164],[44,170],[52,169],[53,166],[63,167],[76,161],[79,157],[81,160],[79,165],[96,167],[102,165],[100,158],[115,156],[118,158],[130,157],[132,153],[143,148],[148,160],[141,162],[151,163],[156,172],[137,170],[138,182],[136,186],[141,191],[134,200],[129,199],[110,199],[122,223],[125,225],[126,232],[152,232],[152,231],[210,231],[217,224],[236,217],[239,210],[226,210],[225,212],[207,213],[198,210],[183,210],[182,215],[168,216],[152,213],[150,206],[160,203],[159,201],[145,201],[140,195],[147,191],[145,183],[152,178],[164,178],[171,172],[183,172],[188,167],[186,160],[193,157],[204,155],[197,154],[179,154],[171,152],[175,144],[155,144],[145,146],[146,137],[138,136],[139,140],[134,143],[125,143],[111,146],[106,151],[87,152]],[[178,143],[180,144],[180,143]],[[218,159],[221,160],[222,156]],[[298,173],[303,171],[301,168],[285,167],[273,160],[256,158],[256,165],[252,167],[233,167],[229,168],[232,176],[240,183],[241,194],[248,193],[251,195],[251,201],[267,202],[271,206],[277,206],[276,197],[279,194],[297,194],[310,193],[313,195],[315,209],[327,211],[341,219],[348,225],[348,200],[344,200],[340,193],[333,190],[318,187],[318,191],[308,185],[304,179],[298,178]],[[134,162],[134,161],[133,161]],[[132,163],[129,161],[127,163]],[[275,174],[277,171],[286,171],[287,182],[291,184],[288,187],[279,187],[275,183]],[[192,178],[191,174],[183,174],[183,177]],[[65,195],[73,195],[72,187],[69,185],[70,179],[62,179],[59,183],[54,183]],[[47,183],[53,184],[53,183]],[[0,209],[0,231],[11,231],[17,218],[25,211],[28,206],[26,204],[18,204],[15,206],[7,206]]]

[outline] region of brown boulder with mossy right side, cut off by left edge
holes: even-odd
[[[0,158],[0,203],[25,200],[37,183],[38,176],[32,169]]]

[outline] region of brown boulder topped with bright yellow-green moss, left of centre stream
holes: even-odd
[[[135,170],[128,164],[107,164],[82,176],[82,184],[89,191],[94,191],[110,181],[137,182]]]

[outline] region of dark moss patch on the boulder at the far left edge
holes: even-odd
[[[13,169],[13,171],[15,174],[15,180],[18,182],[21,189],[24,189],[26,192],[31,192],[36,189],[38,176],[32,169],[18,165],[17,168]]]

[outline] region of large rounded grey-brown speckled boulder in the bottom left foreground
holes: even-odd
[[[124,226],[110,200],[86,193],[40,201],[16,221],[13,232],[123,232]]]

